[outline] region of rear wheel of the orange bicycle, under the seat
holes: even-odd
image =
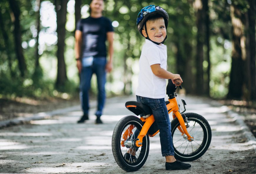
[[[144,136],[144,138],[142,139],[141,147],[134,147],[133,143],[132,148],[127,148],[126,146],[121,145],[121,141],[124,140],[123,134],[124,131],[130,127],[130,125],[134,125],[134,128],[132,129],[133,134],[129,134],[127,137],[127,140],[134,141],[135,139],[137,139],[137,136],[139,134],[139,131],[141,131],[143,124],[144,123],[138,117],[129,115],[119,120],[114,129],[112,136],[112,152],[119,167],[127,172],[139,170],[146,162],[149,153],[149,135],[147,134],[146,136]],[[125,160],[124,155],[129,150],[133,151],[133,153],[136,153],[136,161]]]

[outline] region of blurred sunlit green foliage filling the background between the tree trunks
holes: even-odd
[[[209,0],[210,8],[210,57],[211,79],[210,96],[223,98],[227,94],[230,66],[231,66],[231,38],[232,24],[230,18],[230,3],[240,7],[242,13],[247,11],[247,1],[243,0]],[[53,1],[42,1],[48,4],[49,9],[54,8]],[[82,1],[82,6],[87,5],[89,0]],[[195,55],[196,55],[196,9],[191,0],[107,0],[105,1],[104,16],[119,25],[114,28],[114,70],[108,74],[106,84],[108,96],[113,94],[130,94],[136,89],[138,75],[138,60],[145,38],[137,31],[136,19],[139,10],[149,4],[162,6],[169,14],[167,28],[168,38],[165,42],[168,54],[168,70],[182,74],[185,65],[191,64],[191,73],[184,73],[189,79],[195,79]],[[14,48],[14,26],[12,16],[9,13],[9,2],[0,2],[0,13],[4,21],[4,31],[8,36],[9,45],[3,38],[0,30],[0,95],[47,97],[59,95],[54,83],[56,81],[56,42],[40,43],[40,67],[35,69],[35,46],[36,42],[36,3],[35,0],[19,1],[21,16],[21,35],[24,49],[24,57],[28,72],[25,78],[20,78],[19,65]],[[48,10],[48,9],[44,9]],[[42,13],[41,13],[42,14]],[[67,20],[74,23],[72,13],[68,14]],[[87,12],[88,15],[88,12]],[[45,17],[45,16],[44,16]],[[54,18],[55,16],[48,16]],[[42,20],[42,17],[41,17]],[[71,20],[71,21],[70,21]],[[72,21],[73,20],[73,21]],[[75,24],[74,24],[75,25]],[[72,27],[71,27],[72,28]],[[41,34],[48,33],[56,37],[50,26],[41,24]],[[41,35],[39,35],[41,36]],[[45,36],[45,35],[42,35]],[[40,37],[39,37],[40,40]],[[66,32],[65,62],[67,65],[68,82],[61,87],[60,92],[72,94],[78,91],[79,76],[74,60],[74,32]],[[7,49],[9,48],[9,53]],[[189,50],[190,49],[190,50]],[[180,60],[177,60],[179,58]],[[205,76],[207,76],[207,61],[204,61]],[[196,80],[192,80],[192,87]],[[184,82],[186,83],[186,82]],[[96,78],[92,79],[92,92],[97,93]]]

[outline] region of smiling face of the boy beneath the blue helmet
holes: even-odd
[[[146,22],[147,33],[143,27],[142,34],[144,37],[149,37],[150,40],[161,43],[166,37],[166,28],[163,18],[158,18],[156,20],[149,20]],[[148,35],[147,35],[148,34]]]

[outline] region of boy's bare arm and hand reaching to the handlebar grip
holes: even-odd
[[[173,73],[161,68],[160,64],[154,64],[154,65],[151,65],[150,67],[151,67],[153,74],[159,78],[171,79],[173,84],[174,84],[173,80],[179,79],[182,81],[179,74],[173,74]]]

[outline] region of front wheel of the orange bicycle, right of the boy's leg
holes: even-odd
[[[172,120],[172,138],[174,157],[180,161],[194,161],[200,158],[209,148],[212,139],[212,130],[208,121],[201,115],[195,113],[185,113],[189,121],[187,131],[194,140],[189,142],[186,134],[181,135],[177,127],[180,125],[177,118]]]

